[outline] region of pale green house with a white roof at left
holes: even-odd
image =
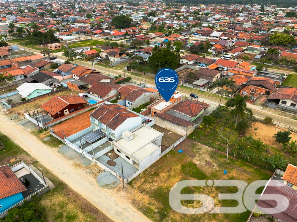
[[[53,89],[43,83],[28,83],[20,85],[18,88],[18,93],[22,98],[32,99],[44,94],[51,92]]]

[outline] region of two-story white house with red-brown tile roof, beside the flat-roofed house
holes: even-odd
[[[90,114],[92,130],[102,130],[107,138],[121,137],[125,130],[141,125],[141,116],[118,104],[103,104]]]

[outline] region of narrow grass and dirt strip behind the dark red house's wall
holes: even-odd
[[[29,112],[29,111],[34,110],[34,109],[37,109],[37,108],[40,108],[40,105],[42,105],[46,101],[50,100],[54,96],[71,95],[71,93],[73,93],[73,92],[71,90],[67,89],[67,90],[63,90],[61,92],[57,92],[57,93],[52,94],[52,95],[44,96],[43,98],[39,97],[35,101],[25,103],[23,105],[11,108],[11,109],[7,110],[7,112],[5,114],[8,115],[8,116],[18,116],[18,118],[16,118],[16,119],[19,121],[19,120],[25,118],[24,113]]]

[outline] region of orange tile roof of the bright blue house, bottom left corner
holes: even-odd
[[[0,199],[26,190],[8,165],[0,167]]]

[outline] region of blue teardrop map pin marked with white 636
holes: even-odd
[[[178,75],[171,68],[162,68],[155,76],[155,83],[160,94],[167,102],[177,88]]]

